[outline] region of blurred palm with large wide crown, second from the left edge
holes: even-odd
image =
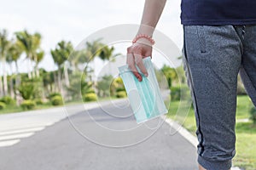
[[[29,65],[32,68],[32,60],[37,63],[37,53],[41,43],[41,35],[36,32],[33,35],[29,34],[26,30],[15,33],[21,47],[26,53],[26,59],[28,59]],[[29,71],[28,77],[35,77],[36,71]]]

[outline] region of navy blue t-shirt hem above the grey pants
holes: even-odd
[[[256,24],[256,0],[182,0],[183,25]]]

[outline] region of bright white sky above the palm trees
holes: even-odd
[[[143,0],[0,0],[0,29],[7,29],[9,38],[15,31],[26,29],[42,35],[45,56],[39,67],[56,69],[50,49],[61,40],[73,42],[74,47],[86,37],[108,26],[139,24]],[[166,1],[166,7],[156,30],[172,39],[181,50],[183,30],[180,24],[180,1]],[[126,44],[125,44],[126,45]],[[117,53],[125,54],[125,48]],[[19,61],[20,71],[27,71],[25,56]],[[99,62],[100,61],[96,61]]]

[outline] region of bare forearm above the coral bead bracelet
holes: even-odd
[[[145,0],[143,18],[137,34],[152,36],[166,5],[166,0]]]

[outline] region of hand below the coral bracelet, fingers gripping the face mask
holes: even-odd
[[[135,65],[137,65],[140,71],[143,72],[145,77],[148,77],[148,72],[143,65],[143,58],[148,56],[152,58],[152,45],[146,38],[140,38],[137,42],[127,48],[126,64],[139,82],[143,80],[143,77],[137,71]]]

